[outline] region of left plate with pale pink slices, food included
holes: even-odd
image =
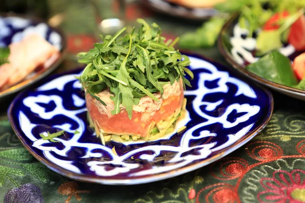
[[[63,60],[63,33],[47,23],[0,15],[0,99],[53,71]]]

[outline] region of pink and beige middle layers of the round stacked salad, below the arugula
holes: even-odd
[[[92,97],[86,94],[86,106],[89,115],[93,122],[96,122],[101,130],[110,134],[137,134],[140,137],[147,137],[149,125],[152,122],[158,123],[167,119],[175,113],[176,110],[181,109],[184,99],[184,89],[182,80],[173,85],[167,84],[163,86],[164,94],[161,98],[161,93],[155,94],[159,99],[159,103],[154,101],[149,96],[144,96],[140,99],[138,105],[133,106],[132,119],[128,118],[128,113],[124,107],[121,108],[120,113],[112,115],[111,110],[114,109],[114,102],[110,99],[110,93],[104,90],[97,94],[107,106],[104,106]]]

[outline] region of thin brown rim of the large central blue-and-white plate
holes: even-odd
[[[188,51],[184,51],[184,54],[187,55],[192,55],[194,57],[198,57],[200,59],[209,61],[209,62],[213,62],[216,65],[220,65],[222,67],[225,67],[226,69],[228,69],[228,72],[232,72],[234,71],[234,69],[231,69],[230,67],[227,67],[219,62],[216,62],[212,59],[209,59],[207,57],[204,57],[202,55],[196,54],[196,53],[192,53],[192,52],[188,52]],[[76,71],[76,69],[74,70]],[[63,76],[66,75],[68,73],[70,73],[71,71],[67,71],[64,73],[60,73],[60,74],[54,74],[52,76],[50,76],[48,79],[52,80],[54,78],[57,78],[59,76]],[[24,136],[22,135],[22,131],[21,128],[17,127],[17,124],[14,122],[13,116],[12,116],[12,111],[13,111],[13,107],[15,106],[15,103],[18,99],[20,99],[24,94],[27,93],[27,91],[23,91],[21,93],[19,93],[14,100],[12,101],[12,103],[9,106],[8,109],[8,119],[9,122],[14,130],[14,132],[16,133],[18,139],[20,140],[20,142],[22,143],[22,145],[40,162],[42,162],[44,165],[46,165],[48,168],[50,168],[52,171],[62,175],[62,176],[66,176],[68,178],[77,180],[77,181],[85,181],[85,182],[90,182],[90,183],[100,183],[100,184],[105,184],[105,185],[137,185],[137,184],[144,184],[144,183],[150,183],[150,182],[155,182],[155,181],[160,181],[160,180],[164,180],[164,179],[168,179],[168,178],[172,178],[175,176],[179,176],[191,171],[194,171],[200,167],[203,167],[205,165],[208,165],[212,162],[215,162],[217,160],[219,160],[220,158],[228,155],[229,153],[235,151],[236,149],[240,148],[242,145],[245,145],[247,142],[249,142],[254,136],[256,136],[257,133],[259,133],[261,130],[264,129],[264,127],[268,124],[268,122],[271,119],[272,113],[273,113],[273,107],[274,107],[274,101],[273,101],[273,96],[271,94],[271,92],[263,87],[261,87],[260,85],[257,84],[253,84],[254,86],[258,86],[259,88],[261,88],[267,96],[267,99],[269,101],[269,107],[268,107],[268,112],[266,113],[263,121],[261,124],[259,124],[259,126],[257,126],[255,129],[252,130],[251,133],[247,132],[245,134],[245,136],[243,136],[243,138],[241,140],[239,140],[239,142],[236,142],[232,145],[230,145],[229,147],[227,147],[226,149],[224,149],[222,152],[220,152],[219,154],[216,154],[214,156],[211,156],[205,160],[202,160],[198,163],[195,164],[191,164],[191,165],[187,165],[187,166],[183,166],[181,168],[178,168],[177,170],[172,170],[172,171],[167,171],[167,172],[163,172],[160,174],[156,174],[150,177],[142,177],[142,178],[130,178],[130,179],[106,179],[106,178],[101,178],[101,177],[93,177],[93,176],[88,176],[88,175],[83,175],[83,174],[75,174],[73,172],[70,172],[64,168],[60,168],[58,167],[58,165],[56,165],[55,163],[52,163],[49,160],[46,160],[44,158],[42,158],[40,155],[35,154],[32,150],[31,147],[26,145],[26,142],[24,140]],[[46,160],[46,161],[45,161]]]

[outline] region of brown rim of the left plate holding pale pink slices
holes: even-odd
[[[64,32],[61,29],[59,29],[57,27],[53,27],[47,21],[42,20],[42,19],[37,18],[37,17],[15,14],[15,13],[14,14],[12,14],[12,13],[0,13],[0,17],[19,17],[19,18],[23,18],[23,19],[28,19],[28,20],[30,20],[34,23],[45,23],[45,24],[47,24],[48,27],[50,27],[54,31],[56,31],[60,35],[60,37],[62,38],[62,42],[60,42],[60,44],[62,45],[62,50],[60,51],[59,57],[56,59],[56,61],[53,62],[47,69],[42,69],[41,71],[37,72],[31,78],[29,78],[27,80],[23,80],[23,81],[17,83],[16,85],[14,85],[14,86],[12,86],[8,89],[0,91],[0,98],[4,98],[8,95],[14,94],[14,93],[32,85],[32,84],[34,84],[35,82],[38,82],[39,80],[41,80],[42,78],[46,77],[51,72],[53,72],[59,66],[59,64],[62,63],[65,59],[66,51],[67,51],[67,39],[66,39],[66,36],[64,35]]]

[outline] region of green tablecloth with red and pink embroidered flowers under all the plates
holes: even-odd
[[[113,17],[112,1],[96,1],[103,18]],[[89,1],[50,0],[52,23],[67,34],[69,55],[56,72],[77,66],[74,53],[87,50],[98,36]],[[126,19],[157,22],[167,37],[194,30],[198,23],[169,18],[127,1]],[[216,47],[197,52],[225,63]],[[21,145],[0,109],[0,201],[25,202],[305,202],[304,102],[272,92],[275,113],[251,142],[199,170],[164,181],[135,186],[106,186],[75,182],[38,162]],[[19,201],[18,201],[19,200]]]

